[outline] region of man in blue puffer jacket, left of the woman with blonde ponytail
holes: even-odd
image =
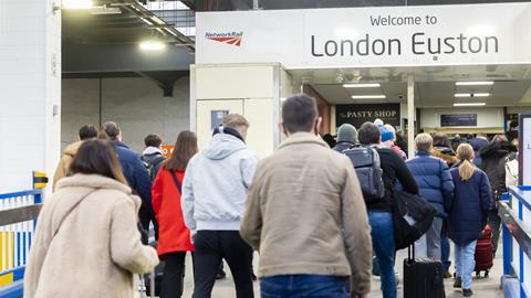
[[[418,135],[415,138],[416,156],[406,164],[415,177],[420,195],[437,210],[431,227],[415,243],[416,256],[441,260],[440,232],[451,206],[454,182],[446,162],[430,155],[433,145],[434,139],[428,134]]]

